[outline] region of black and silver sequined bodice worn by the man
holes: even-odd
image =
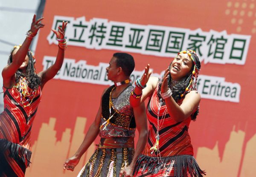
[[[129,85],[117,98],[112,98],[111,93],[115,89],[113,85],[102,96],[100,137],[134,137],[136,124],[129,102],[132,87]]]

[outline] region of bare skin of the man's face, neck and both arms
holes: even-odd
[[[129,79],[129,76],[125,76],[125,74],[122,71],[122,67],[116,66],[116,58],[113,57],[109,63],[109,66],[106,68],[108,73],[108,79],[112,80],[114,83],[124,81],[126,79]],[[112,92],[112,98],[116,98],[122,93],[122,91],[128,87],[128,84],[123,84],[121,86],[116,87],[116,89]],[[105,89],[102,93],[102,95],[105,93],[107,89]],[[138,107],[133,108],[134,111],[134,117],[136,122],[136,127],[139,132],[139,139],[137,141],[136,150],[134,152],[134,157],[131,161],[131,164],[120,171],[120,175],[124,174],[125,177],[132,177],[132,173],[134,171],[134,167],[136,165],[137,157],[140,155],[140,153],[144,150],[146,141],[147,141],[147,120],[146,120],[146,114],[145,114],[145,105],[144,103],[140,104]],[[101,120],[101,114],[102,114],[102,107],[101,103],[99,105],[99,110],[97,112],[96,118],[91,124],[87,134],[84,137],[83,142],[81,143],[81,146],[76,151],[75,155],[68,158],[66,162],[63,165],[64,169],[73,171],[76,165],[79,163],[79,160],[81,156],[84,154],[84,152],[87,151],[91,143],[95,140],[97,135],[99,134],[99,128],[100,128],[100,120]]]

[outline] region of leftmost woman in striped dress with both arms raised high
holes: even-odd
[[[67,48],[64,38],[67,22],[63,22],[58,31],[52,30],[59,41],[55,63],[47,70],[35,72],[35,57],[29,46],[38,30],[44,27],[41,23],[43,19],[36,20],[34,15],[26,39],[22,45],[12,49],[8,64],[2,71],[4,111],[0,114],[1,177],[24,177],[32,154],[30,134],[41,101],[41,90],[61,68]]]

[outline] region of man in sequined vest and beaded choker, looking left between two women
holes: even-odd
[[[114,53],[106,68],[108,79],[114,85],[105,89],[95,121],[76,151],[64,163],[64,169],[74,170],[81,156],[99,134],[99,146],[81,169],[78,177],[131,177],[138,155],[143,151],[147,138],[145,106],[133,109],[129,96],[133,88],[130,75],[134,59],[128,53]],[[135,129],[139,139],[134,150]]]

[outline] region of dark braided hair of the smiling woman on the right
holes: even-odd
[[[191,54],[192,54],[192,57],[195,60],[195,63],[196,63],[196,66],[197,66],[198,70],[200,70],[201,63],[200,63],[200,60],[199,60],[198,56],[194,53],[191,53]],[[171,65],[172,65],[172,62],[168,67],[169,70],[171,68]],[[194,64],[194,62],[192,62],[192,67],[191,67],[191,70],[189,71],[189,73],[180,82],[177,82],[177,84],[175,84],[172,88],[172,98],[175,100],[176,103],[178,101],[180,101],[182,98],[184,98],[187,93],[189,93],[189,92],[184,93],[184,90],[186,89],[186,87],[189,85],[189,82],[191,81],[191,78],[193,76],[192,71],[193,71],[194,66],[195,66],[195,64]],[[167,81],[168,81],[168,87],[171,88],[172,83],[171,83],[171,74],[170,73],[169,73]],[[158,97],[159,100],[162,98],[161,95],[160,95],[162,82],[163,82],[163,78],[158,83],[157,97]],[[193,84],[192,90],[196,90],[196,81]],[[183,94],[183,96],[181,96],[182,94]],[[199,107],[197,108],[197,110],[195,112],[192,113],[191,119],[195,121],[196,116],[198,115],[198,113],[199,113]]]

